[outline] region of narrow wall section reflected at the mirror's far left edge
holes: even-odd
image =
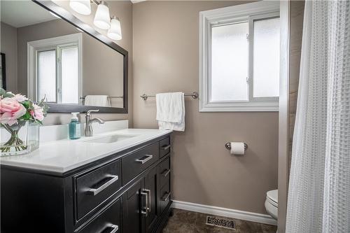
[[[7,90],[17,92],[17,30],[1,22],[1,52],[6,56],[6,86]]]

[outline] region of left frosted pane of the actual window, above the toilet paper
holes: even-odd
[[[211,101],[248,100],[248,22],[211,29]]]

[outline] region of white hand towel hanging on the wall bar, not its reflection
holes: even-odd
[[[185,97],[183,92],[155,95],[159,129],[185,131]]]

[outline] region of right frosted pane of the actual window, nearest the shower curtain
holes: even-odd
[[[279,97],[279,18],[254,22],[254,97]]]

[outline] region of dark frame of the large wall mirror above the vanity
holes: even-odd
[[[61,6],[58,6],[56,3],[52,1],[45,1],[45,0],[31,0],[34,3],[37,3],[39,6],[42,6],[46,10],[51,11],[52,13],[55,13],[59,17],[62,18],[62,20],[65,20],[66,22],[69,22],[77,29],[84,31],[88,35],[92,36],[93,38],[97,39],[97,41],[100,41],[104,43],[105,45],[109,46],[109,48],[116,50],[124,57],[124,73],[123,73],[123,108],[115,108],[115,107],[103,107],[103,106],[83,106],[83,105],[76,105],[76,104],[49,104],[50,107],[48,112],[49,113],[72,113],[72,112],[79,112],[79,113],[85,113],[90,109],[99,109],[99,113],[127,113],[127,80],[128,80],[128,52],[124,48],[120,47],[116,43],[114,43],[110,38],[104,36],[103,34],[100,34],[96,29],[91,27],[88,24],[85,24],[85,22],[79,20],[76,16],[74,16],[72,13],[70,13],[65,8],[62,8]]]

